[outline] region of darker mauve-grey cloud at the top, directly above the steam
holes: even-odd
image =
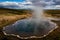
[[[53,0],[50,0],[48,2],[46,2],[46,0],[27,0],[27,1],[30,1],[32,2],[33,5],[52,5],[52,4],[55,4],[55,2],[53,2]]]

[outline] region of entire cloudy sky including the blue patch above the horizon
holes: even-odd
[[[29,9],[40,5],[44,9],[60,9],[60,0],[0,0],[0,8]]]

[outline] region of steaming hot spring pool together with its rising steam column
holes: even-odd
[[[35,0],[34,3],[36,3]],[[41,6],[35,6],[34,3],[32,17],[18,20],[12,25],[3,27],[3,33],[5,35],[13,35],[21,39],[42,38],[57,28],[55,23],[42,16],[43,8]]]

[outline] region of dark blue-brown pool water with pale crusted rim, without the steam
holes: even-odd
[[[30,19],[23,19],[3,27],[3,32],[8,35],[19,35],[19,38],[31,38],[32,36],[41,38],[48,35],[55,28],[57,28],[56,24],[51,21],[40,20],[39,25],[36,25]]]

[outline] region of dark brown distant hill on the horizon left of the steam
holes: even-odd
[[[13,13],[13,14],[25,14],[31,13],[30,9],[9,9],[9,8],[0,8],[0,14]]]

